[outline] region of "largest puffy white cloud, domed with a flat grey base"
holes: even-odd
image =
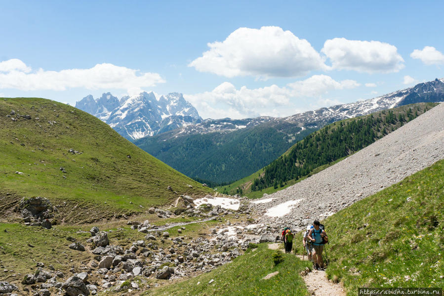
[[[225,77],[296,77],[325,70],[324,60],[310,42],[280,27],[239,28],[188,66]]]

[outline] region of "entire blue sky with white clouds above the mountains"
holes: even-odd
[[[288,116],[443,78],[443,1],[0,1],[0,95]],[[209,46],[210,45],[210,46]]]

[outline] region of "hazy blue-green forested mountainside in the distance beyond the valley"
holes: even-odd
[[[301,131],[286,122],[266,123],[228,133],[178,137],[163,133],[134,143],[187,176],[220,184],[264,167],[313,130]]]

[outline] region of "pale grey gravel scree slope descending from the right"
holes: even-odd
[[[289,225],[295,230],[400,182],[405,177],[444,158],[444,103],[391,132],[363,150],[323,171],[251,204],[261,223],[272,228]],[[303,199],[282,217],[266,210]]]

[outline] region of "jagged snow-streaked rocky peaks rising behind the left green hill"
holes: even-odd
[[[153,136],[178,127],[200,123],[198,111],[181,93],[156,98],[153,92],[141,92],[121,99],[110,92],[94,99],[87,95],[76,103],[79,108],[113,127],[128,140]]]

